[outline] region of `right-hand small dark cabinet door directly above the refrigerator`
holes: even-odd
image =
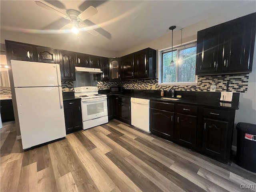
[[[57,50],[55,49],[36,47],[36,56],[39,62],[57,63]]]

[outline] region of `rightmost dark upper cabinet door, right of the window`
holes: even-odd
[[[233,20],[224,29],[222,72],[252,71],[256,14]],[[250,60],[251,59],[251,60]]]

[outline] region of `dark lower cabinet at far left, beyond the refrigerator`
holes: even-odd
[[[1,100],[1,119],[2,122],[14,121],[12,100]]]

